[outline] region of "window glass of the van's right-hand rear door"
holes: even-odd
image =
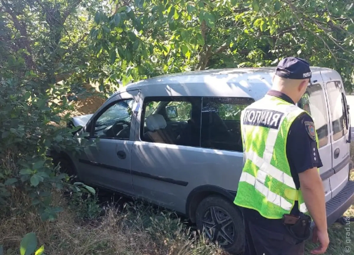
[[[344,104],[340,81],[327,82],[329,104],[331,107],[333,140],[338,140],[347,132],[344,118]]]

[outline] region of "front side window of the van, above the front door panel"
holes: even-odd
[[[94,123],[93,137],[129,140],[133,103],[121,100],[106,109]]]

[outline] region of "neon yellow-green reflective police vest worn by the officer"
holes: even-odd
[[[288,131],[292,121],[302,113],[299,107],[268,95],[242,112],[245,167],[235,204],[256,209],[266,218],[280,219],[284,213],[290,213],[294,201],[298,200],[299,210],[307,212],[286,158]],[[318,142],[317,134],[316,140]],[[253,191],[243,183],[253,186]]]

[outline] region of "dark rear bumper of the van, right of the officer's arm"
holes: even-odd
[[[354,203],[354,182],[348,181],[344,188],[326,203],[327,225],[333,224]]]

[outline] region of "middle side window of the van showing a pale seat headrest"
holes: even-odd
[[[200,146],[200,97],[148,97],[143,104],[141,139]]]

